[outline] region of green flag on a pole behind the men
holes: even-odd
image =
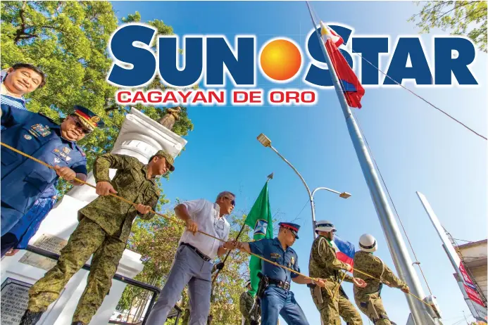
[[[268,181],[266,181],[249,215],[247,215],[245,224],[254,229],[253,238],[255,241],[263,238],[273,238],[273,219],[271,218],[270,200],[268,197]],[[251,256],[251,260],[249,260],[249,276],[251,277],[251,291],[249,293],[253,297],[258,291],[258,272],[261,271],[261,262],[255,256]]]

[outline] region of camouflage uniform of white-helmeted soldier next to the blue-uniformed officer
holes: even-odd
[[[344,274],[342,270],[349,269],[349,265],[337,260],[332,244],[323,236],[315,238],[312,244],[308,273],[313,278],[326,279],[325,288],[320,288],[323,302],[315,295],[318,288],[311,288],[313,302],[320,312],[324,324],[341,325],[339,315],[348,324],[363,324],[359,312],[354,308],[342,288],[337,291],[337,286],[344,276],[344,281],[352,282],[352,277]],[[337,294],[334,299],[332,296]]]

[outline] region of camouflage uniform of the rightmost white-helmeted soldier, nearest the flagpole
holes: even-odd
[[[393,288],[408,288],[405,282],[397,278],[391,269],[384,265],[380,257],[362,250],[354,255],[354,267],[359,270],[382,279],[384,283]],[[371,279],[354,270],[354,276],[363,279],[368,285],[365,288],[354,286],[354,300],[361,312],[369,317],[376,325],[391,325],[387,312],[384,310],[383,302],[380,297],[382,283],[378,280]]]

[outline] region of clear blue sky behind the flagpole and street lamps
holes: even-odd
[[[312,5],[322,20],[350,25],[355,34],[390,35],[391,46],[398,35],[418,34],[415,25],[407,22],[419,10],[410,1]],[[225,34],[232,40],[235,34],[256,34],[258,48],[277,36],[290,37],[304,46],[311,30],[304,2],[121,1],[113,6],[119,18],[139,11],[142,20],[161,19],[180,36]],[[432,34],[445,33],[434,30]],[[433,51],[430,38],[431,35],[423,37],[427,53]],[[380,63],[385,68],[387,59]],[[477,52],[471,70],[479,87],[414,89],[408,83],[406,86],[486,136],[486,53]],[[258,74],[258,87],[270,86]],[[286,87],[305,88],[299,79]],[[444,324],[453,324],[462,319],[463,310],[467,315],[470,313],[453,279],[453,268],[415,191],[427,196],[442,224],[455,238],[470,241],[487,238],[487,142],[404,89],[368,88],[362,103],[363,108],[354,113],[430,288],[437,296]],[[332,193],[318,192],[317,219],[334,222],[338,234],[356,246],[361,234],[375,235],[379,243],[377,255],[394,269],[333,89],[320,90],[318,105],[313,107],[195,106],[189,107],[189,117],[195,129],[186,137],[187,150],[175,161],[177,171],[170,181],[164,182],[164,191],[171,200],[168,208],[175,198],[213,200],[218,192],[228,190],[237,194],[236,210],[249,212],[266,176],[275,172],[269,186],[271,207],[280,219],[297,219],[301,224],[301,238],[294,249],[299,254],[302,271],[307,272],[313,241],[311,212],[306,205],[308,196],[294,172],[273,151],[258,143],[256,136],[263,132],[301,172],[311,189],[325,186],[352,193],[351,198],[344,200]],[[344,287],[352,297],[351,285],[346,283]],[[293,284],[292,291],[310,324],[320,324],[308,288]],[[409,310],[403,293],[385,288],[382,296],[389,317],[397,324],[405,324]],[[363,319],[368,324],[368,319]]]

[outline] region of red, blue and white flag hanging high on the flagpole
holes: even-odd
[[[320,34],[322,34],[325,49],[329,53],[334,70],[339,78],[339,82],[341,82],[347,104],[351,107],[361,108],[361,98],[364,95],[364,88],[344,56],[342,56],[342,53],[337,49],[339,45],[344,43],[344,40],[322,21],[320,21]]]

